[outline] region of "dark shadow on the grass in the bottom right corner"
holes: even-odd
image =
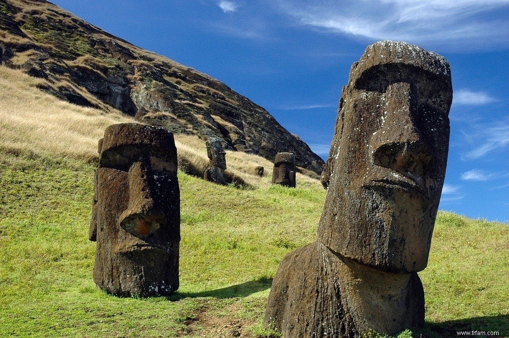
[[[460,336],[459,331],[470,332],[472,336],[507,337],[509,336],[509,315],[465,318],[442,323],[428,322],[427,326],[432,333],[437,334],[437,337],[457,337]],[[477,331],[484,331],[486,335],[480,335]],[[498,335],[491,332],[498,332]]]

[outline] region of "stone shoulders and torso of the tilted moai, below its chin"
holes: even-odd
[[[369,268],[320,241],[281,261],[264,322],[285,338],[358,337],[369,328],[394,333],[423,324],[424,292],[417,273]]]

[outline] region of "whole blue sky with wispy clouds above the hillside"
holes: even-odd
[[[509,0],[53,0],[139,47],[224,82],[323,158],[341,87],[377,40],[451,65],[441,210],[509,222]]]

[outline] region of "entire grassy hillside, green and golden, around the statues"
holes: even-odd
[[[268,161],[235,152],[229,170],[249,189],[179,172],[180,289],[108,295],[92,281],[88,241],[96,143],[127,119],[58,101],[37,81],[0,67],[0,336],[276,336],[261,328],[270,284],[281,258],[316,238],[320,183],[299,175],[297,189],[271,186],[270,175],[251,174],[270,172]],[[177,141],[181,158],[206,161],[203,141]],[[439,213],[420,273],[427,337],[509,336],[508,238],[507,224]]]

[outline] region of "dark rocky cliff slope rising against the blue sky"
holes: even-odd
[[[106,112],[116,108],[174,133],[217,136],[231,149],[269,160],[294,152],[298,167],[318,174],[323,169],[307,144],[227,85],[44,0],[0,2],[0,60],[45,79],[41,89],[63,100]]]

